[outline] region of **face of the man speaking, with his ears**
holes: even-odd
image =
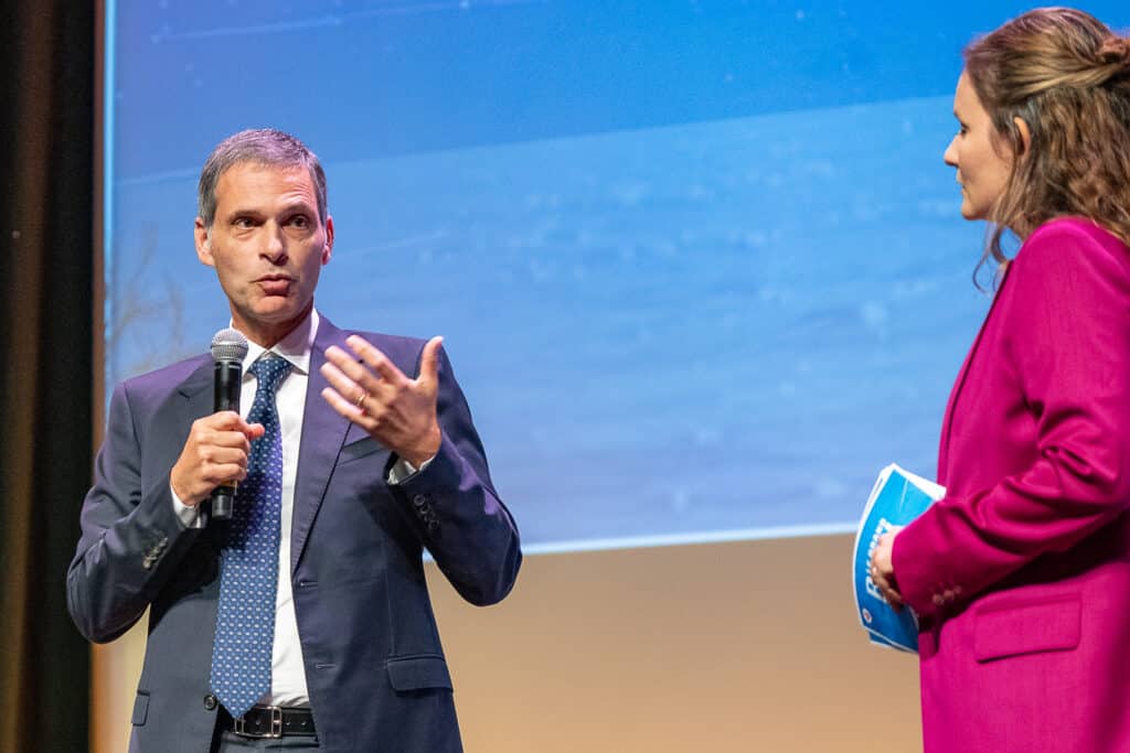
[[[237,163],[216,184],[211,229],[197,218],[195,242],[200,261],[216,269],[235,329],[269,348],[314,305],[333,220],[319,219],[306,168]]]

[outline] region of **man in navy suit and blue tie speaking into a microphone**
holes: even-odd
[[[195,245],[250,342],[244,415],[212,413],[208,356],[119,385],[67,579],[90,640],[150,610],[130,750],[460,750],[421,552],[493,604],[521,551],[441,340],[314,308],[333,220],[285,133],[214,150]]]

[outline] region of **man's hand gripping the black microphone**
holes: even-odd
[[[235,411],[197,419],[168,481],[180,500],[195,507],[221,483],[247,475],[251,440],[263,436],[262,423],[247,423]]]

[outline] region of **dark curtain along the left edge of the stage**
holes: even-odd
[[[64,580],[92,462],[95,19],[0,2],[0,751],[19,753],[87,750]]]

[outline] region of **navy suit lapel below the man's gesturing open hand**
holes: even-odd
[[[329,386],[322,376],[325,349],[337,345],[348,352],[346,333],[321,317],[314,348],[310,353],[310,378],[306,383],[306,402],[302,418],[302,439],[298,443],[298,470],[294,487],[294,511],[290,529],[290,571],[297,569],[302,552],[314,525],[314,518],[325,496],[325,487],[337,463],[341,445],[349,429],[349,420],[339,415],[322,397]]]

